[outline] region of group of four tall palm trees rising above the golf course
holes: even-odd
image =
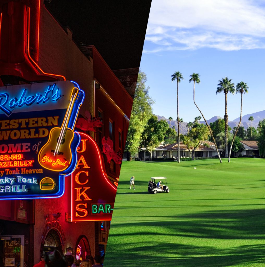
[[[172,82],[173,81],[177,81],[177,123],[178,123],[178,162],[180,162],[180,159],[179,159],[179,123],[180,123],[180,119],[179,119],[179,83],[181,80],[184,80],[183,78],[183,75],[182,73],[180,73],[179,71],[178,72],[175,72],[173,75],[171,75],[171,80]],[[215,147],[216,147],[216,151],[217,151],[217,154],[218,154],[218,157],[219,157],[219,160],[220,160],[220,163],[222,163],[222,159],[220,157],[220,154],[219,154],[219,151],[218,151],[218,148],[217,148],[217,145],[216,145],[216,142],[215,142],[215,138],[213,136],[213,133],[212,133],[212,130],[210,128],[210,126],[208,125],[207,123],[207,120],[205,119],[203,113],[201,112],[201,110],[199,109],[199,107],[197,106],[196,102],[195,102],[195,83],[199,84],[200,83],[200,75],[199,73],[192,73],[190,75],[190,79],[189,79],[189,82],[193,82],[193,102],[195,104],[195,106],[197,107],[197,109],[199,110],[199,112],[201,113],[201,116],[203,117],[208,129],[209,129],[209,132],[212,136],[212,139],[213,139],[213,142],[215,144]],[[247,93],[248,92],[248,86],[246,83],[244,82],[240,82],[236,85],[235,87],[235,84],[232,83],[232,79],[228,79],[228,77],[225,77],[225,78],[222,78],[221,80],[219,80],[219,83],[217,84],[217,88],[216,88],[216,94],[217,93],[224,93],[225,95],[225,114],[224,114],[224,122],[225,122],[225,157],[227,158],[228,157],[228,138],[227,138],[227,135],[228,135],[228,115],[227,115],[227,95],[228,93],[232,93],[233,95],[235,93],[240,93],[241,94],[241,108],[240,108],[240,121],[239,121],[239,124],[238,124],[238,127],[236,128],[236,131],[234,133],[234,136],[233,136],[233,139],[232,139],[232,143],[231,143],[231,147],[230,147],[230,151],[229,151],[229,157],[228,157],[228,162],[230,162],[230,155],[231,155],[231,150],[232,150],[232,145],[233,145],[233,142],[235,140],[235,137],[236,137],[236,133],[238,132],[238,129],[240,127],[240,124],[241,124],[241,120],[242,120],[242,101],[243,101],[243,93]],[[201,120],[201,116],[198,116],[194,119],[194,122],[197,123],[200,123],[200,120]],[[248,118],[248,120],[250,120],[250,122],[252,122],[254,120],[254,118],[251,116]],[[182,120],[183,122],[183,120]],[[189,133],[189,130],[191,129],[192,127],[192,122],[189,122],[187,124],[187,127],[188,127],[188,133]],[[252,135],[252,133],[251,133]]]

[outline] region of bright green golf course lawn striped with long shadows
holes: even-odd
[[[170,192],[148,193],[152,176]],[[264,159],[122,163],[104,266],[258,267],[264,253]]]

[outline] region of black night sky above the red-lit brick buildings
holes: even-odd
[[[151,0],[52,0],[45,5],[73,31],[77,44],[94,45],[111,69],[140,65]]]

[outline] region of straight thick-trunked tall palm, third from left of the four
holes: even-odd
[[[228,150],[227,150],[227,134],[228,134],[228,115],[227,115],[227,94],[231,93],[234,95],[235,93],[235,84],[232,83],[232,79],[228,80],[227,77],[219,80],[219,84],[217,84],[216,94],[223,92],[225,95],[225,114],[224,114],[224,142],[226,146],[226,154],[225,157],[228,158]]]

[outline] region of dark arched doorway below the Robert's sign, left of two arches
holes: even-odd
[[[50,229],[48,233],[46,234],[46,237],[44,239],[44,242],[41,244],[41,252],[52,252],[55,249],[62,252],[62,237],[61,234],[55,229]]]

